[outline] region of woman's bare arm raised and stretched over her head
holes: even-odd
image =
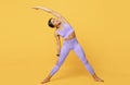
[[[56,17],[60,19],[63,23],[68,23],[65,17],[63,17],[60,13],[57,13],[57,12],[51,10],[51,9],[48,9],[48,8],[44,8],[44,7],[35,7],[35,8],[32,8],[32,9],[43,10],[43,11],[46,11],[46,12],[48,12],[48,13],[51,13],[52,15],[56,16]]]

